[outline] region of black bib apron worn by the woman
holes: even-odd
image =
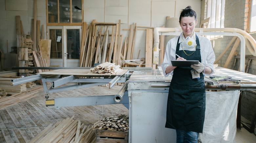
[[[196,51],[184,50],[190,56],[180,50],[179,39],[176,54],[186,60],[199,60],[201,62],[200,43],[197,35]],[[205,113],[204,77],[201,72],[200,79],[192,79],[190,72],[192,69],[191,67],[177,67],[173,71],[167,100],[165,127],[203,133]]]

